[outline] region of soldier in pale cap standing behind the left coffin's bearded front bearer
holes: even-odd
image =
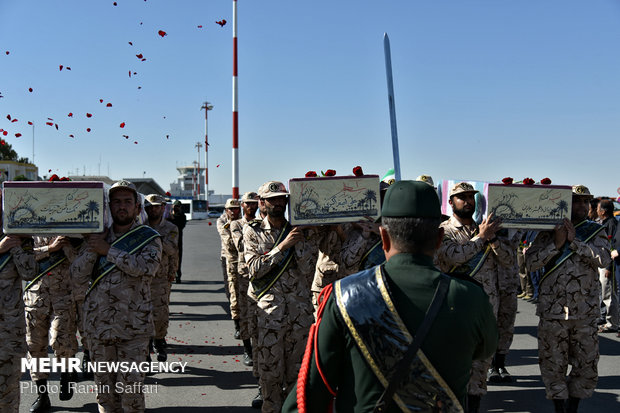
[[[170,288],[175,280],[179,267],[179,228],[172,222],[163,219],[166,199],[157,194],[146,196],[146,214],[149,226],[161,235],[162,253],[159,269],[151,281],[151,298],[153,299],[153,321],[155,335],[153,345],[157,351],[157,361],[166,361],[166,334],[168,334]],[[151,348],[149,346],[149,357]],[[148,358],[147,358],[148,359]]]

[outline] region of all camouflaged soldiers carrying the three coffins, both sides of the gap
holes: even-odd
[[[418,181],[425,182],[426,189],[433,187],[428,176]],[[392,183],[389,178],[381,182],[382,202]],[[517,310],[520,253],[526,271],[541,274],[538,342],[547,398],[558,413],[576,412],[580,400],[590,397],[596,387],[598,333],[614,331],[618,320],[613,314],[617,311],[612,258],[618,254],[611,244],[615,225],[604,213],[599,214],[603,225],[587,220],[592,195],[582,185],[573,187],[571,218],[535,236],[503,229],[492,214],[476,223],[476,193],[466,182],[450,189],[453,215],[442,217],[443,235],[432,249],[431,266],[484,291],[495,317],[492,328],[486,329],[487,337],[478,338],[476,346],[482,349],[477,355],[462,355],[467,366],[471,364],[465,381],[462,377],[455,379],[460,384],[448,380],[455,387],[448,389],[454,401],[454,410],[448,411],[477,412],[487,383],[512,381],[506,355]],[[48,343],[54,357],[75,357],[76,331],[84,350],[83,368],[90,360],[144,362],[151,353],[158,361],[167,359],[169,297],[171,283],[180,282],[179,243],[185,220],[179,205],[165,219],[165,198],[152,194],[144,201],[146,225],[140,224],[142,203],[128,181],[115,183],[108,196],[112,223],[101,234],[0,238],[2,412],[16,412],[19,407],[20,358],[47,357]],[[300,368],[302,359],[304,363],[318,360],[318,355],[311,357],[317,343],[308,337],[318,329],[326,290],[337,280],[379,268],[389,259],[385,240],[390,236],[379,223],[369,219],[293,227],[285,218],[288,196],[283,183],[266,182],[239,200],[229,199],[217,222],[234,335],[243,342],[243,363],[253,367],[258,380],[251,405],[263,412],[296,411],[298,400],[303,399]],[[392,216],[399,217],[398,208],[396,212],[391,208]],[[524,244],[526,237],[531,241]],[[614,294],[601,295],[603,278],[615,291],[616,307],[613,310],[607,304],[610,321],[599,328],[601,300],[613,300]],[[27,281],[25,291],[22,280]],[[354,351],[355,344],[350,348]],[[307,367],[302,370],[307,372]],[[315,380],[323,377],[319,373]],[[95,371],[100,412],[144,411],[141,391],[115,391],[119,382],[139,389],[144,376],[140,371]],[[48,374],[33,371],[31,377],[38,397],[30,411],[48,411]],[[76,380],[71,372],[61,373],[61,401],[72,397],[70,383]]]

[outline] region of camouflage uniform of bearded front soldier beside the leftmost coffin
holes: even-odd
[[[134,223],[132,229],[136,226]],[[116,238],[110,228],[106,241],[111,244]],[[158,238],[131,255],[110,247],[106,258],[116,267],[99,281],[84,302],[84,329],[94,362],[146,360],[154,330],[150,284],[161,254],[162,243]],[[97,258],[95,252],[84,248],[73,261],[71,271],[79,280],[89,279]],[[109,389],[97,394],[99,411],[144,411],[144,393],[116,393],[117,382],[123,387],[138,386],[144,383],[144,373],[95,373],[98,388]]]

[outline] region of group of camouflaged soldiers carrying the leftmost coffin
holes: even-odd
[[[185,217],[177,204],[164,219],[165,198],[147,195],[142,204],[128,181],[116,182],[108,196],[112,223],[103,233],[0,239],[2,412],[19,409],[21,358],[47,358],[48,343],[55,358],[73,358],[78,331],[82,372],[85,379],[94,376],[99,411],[145,409],[144,373],[93,372],[89,362],[144,362],[151,352],[166,361],[170,287],[175,278],[179,282]],[[138,223],[143,205],[144,225]],[[23,299],[22,280],[28,281]],[[35,369],[30,375],[37,392],[30,412],[49,411],[49,373]],[[77,381],[76,372],[61,372],[61,401],[73,397]]]

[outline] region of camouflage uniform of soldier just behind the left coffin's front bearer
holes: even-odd
[[[152,227],[159,232],[162,241],[161,262],[159,269],[151,281],[151,298],[153,299],[153,322],[155,323],[155,339],[163,339],[168,333],[170,304],[170,287],[179,266],[179,228],[170,221],[162,219]]]

